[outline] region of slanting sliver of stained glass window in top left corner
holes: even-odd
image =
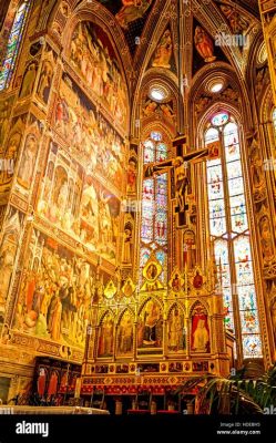
[[[30,3],[31,0],[22,1],[17,11],[8,40],[4,61],[0,72],[0,91],[4,90],[10,84],[27,22],[28,11],[30,9]]]

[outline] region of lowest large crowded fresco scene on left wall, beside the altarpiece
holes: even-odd
[[[95,293],[95,267],[35,229],[31,246],[13,328],[83,347]]]

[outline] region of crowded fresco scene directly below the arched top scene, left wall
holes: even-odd
[[[65,74],[55,103],[54,128],[86,174],[101,174],[112,186],[123,188],[124,141]]]

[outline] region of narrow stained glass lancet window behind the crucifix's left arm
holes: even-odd
[[[161,132],[152,132],[142,144],[143,164],[159,163],[167,158],[167,144]],[[154,174],[142,184],[141,253],[142,269],[154,251],[163,266],[161,278],[167,277],[167,173]]]

